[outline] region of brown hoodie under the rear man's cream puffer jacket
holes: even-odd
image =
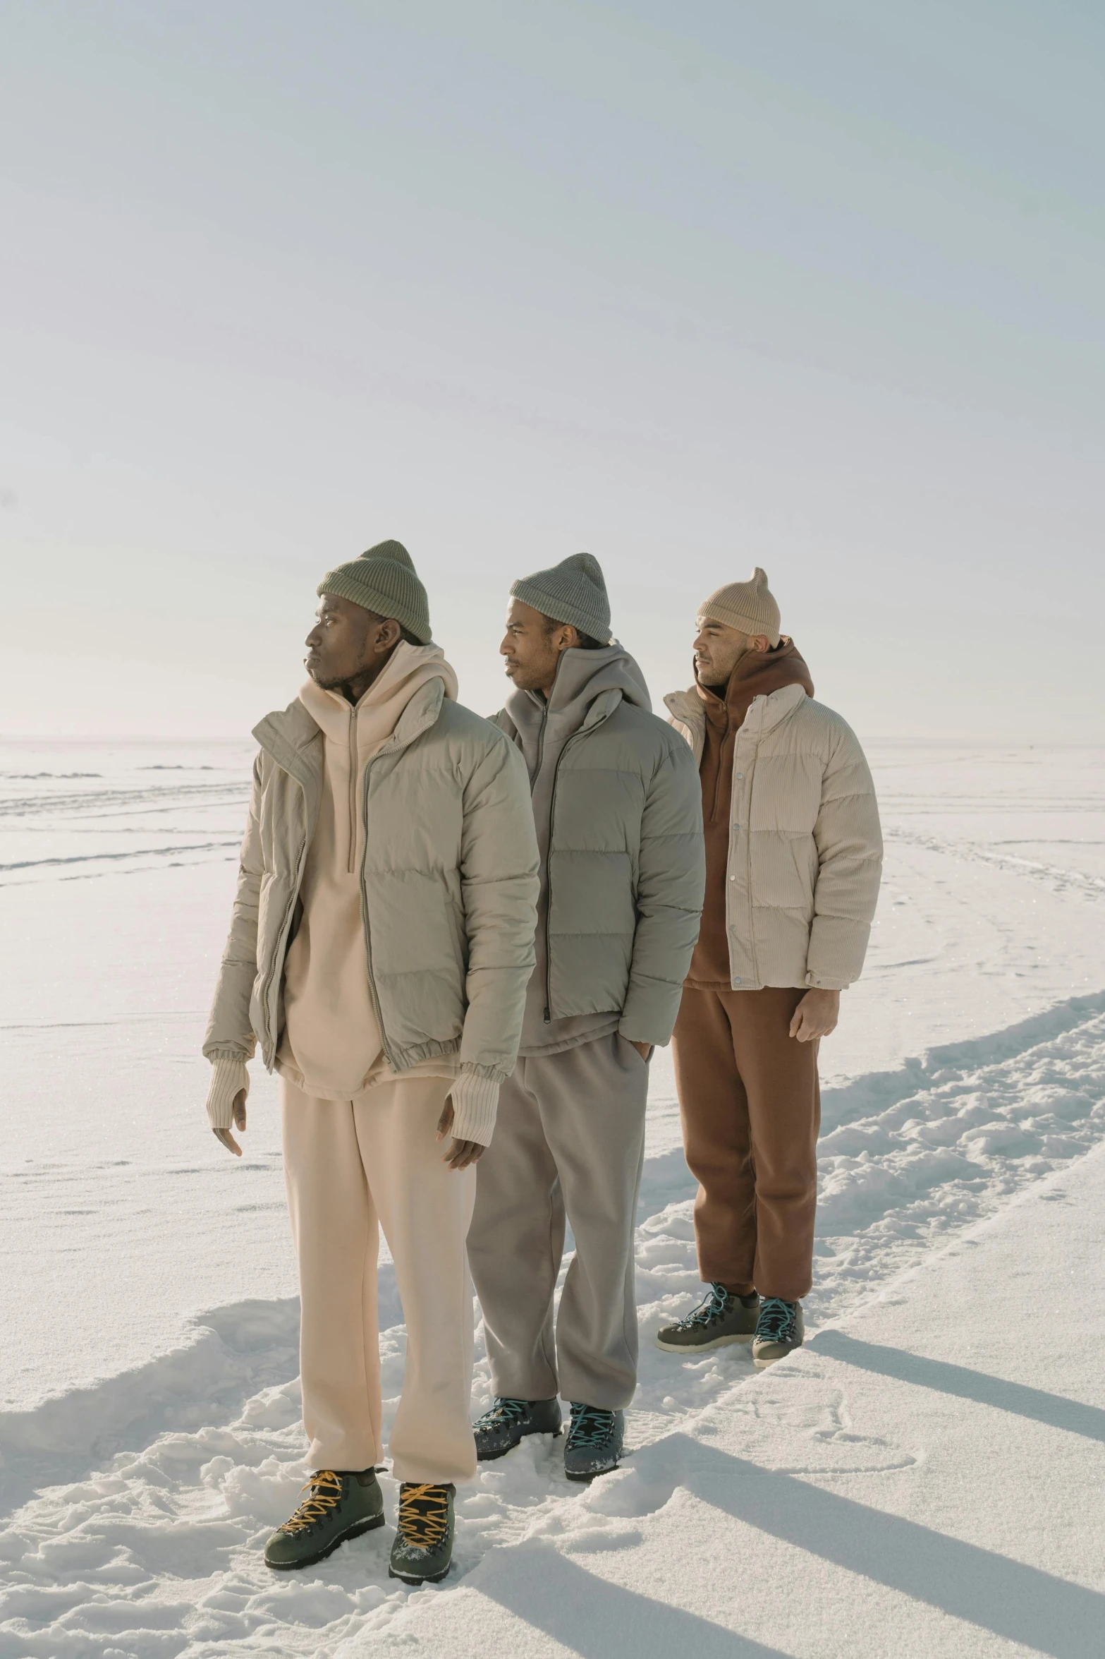
[[[784,685],[802,685],[813,695],[810,670],[792,639],[784,637],[774,650],[749,650],[729,675],[724,695],[702,685],[696,688],[706,710],[706,747],[699,776],[702,780],[702,830],[706,833],[706,899],[702,927],[691,957],[686,984],[696,990],[729,990],[729,937],[726,934],[726,868],[729,863],[729,803],[732,798],[732,752],[752,698],[767,697]]]

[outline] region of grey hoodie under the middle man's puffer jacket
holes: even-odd
[[[586,743],[581,727],[591,703],[603,692],[618,690],[630,703],[651,710],[644,675],[621,645],[601,650],[565,650],[557,664],[548,702],[540,692],[514,690],[507,713],[514,722],[530,773],[533,828],[540,851],[540,896],[537,901],[537,966],[525,992],[520,1055],[557,1053],[618,1030],[621,1009],[555,1019],[548,1005],[548,846],[557,811],[557,766],[568,743]]]

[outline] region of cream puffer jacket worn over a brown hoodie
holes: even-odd
[[[664,698],[701,761],[694,688]],[[843,990],[863,969],[883,868],[855,732],[802,685],[755,697],[732,758],[726,926],[732,985]]]

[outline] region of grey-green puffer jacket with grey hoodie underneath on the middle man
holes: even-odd
[[[548,1025],[613,1014],[630,1042],[666,1044],[706,883],[691,752],[618,644],[567,650],[548,705],[515,692],[495,722],[527,757],[542,849],[530,1002]]]

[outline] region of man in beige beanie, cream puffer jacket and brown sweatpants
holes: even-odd
[[[802,1342],[813,1272],[817,1047],[860,977],[881,873],[875,786],[764,571],[711,594],[696,684],[666,698],[702,783],[706,902],[673,1037],[702,1304],[658,1335],[701,1352]]]

